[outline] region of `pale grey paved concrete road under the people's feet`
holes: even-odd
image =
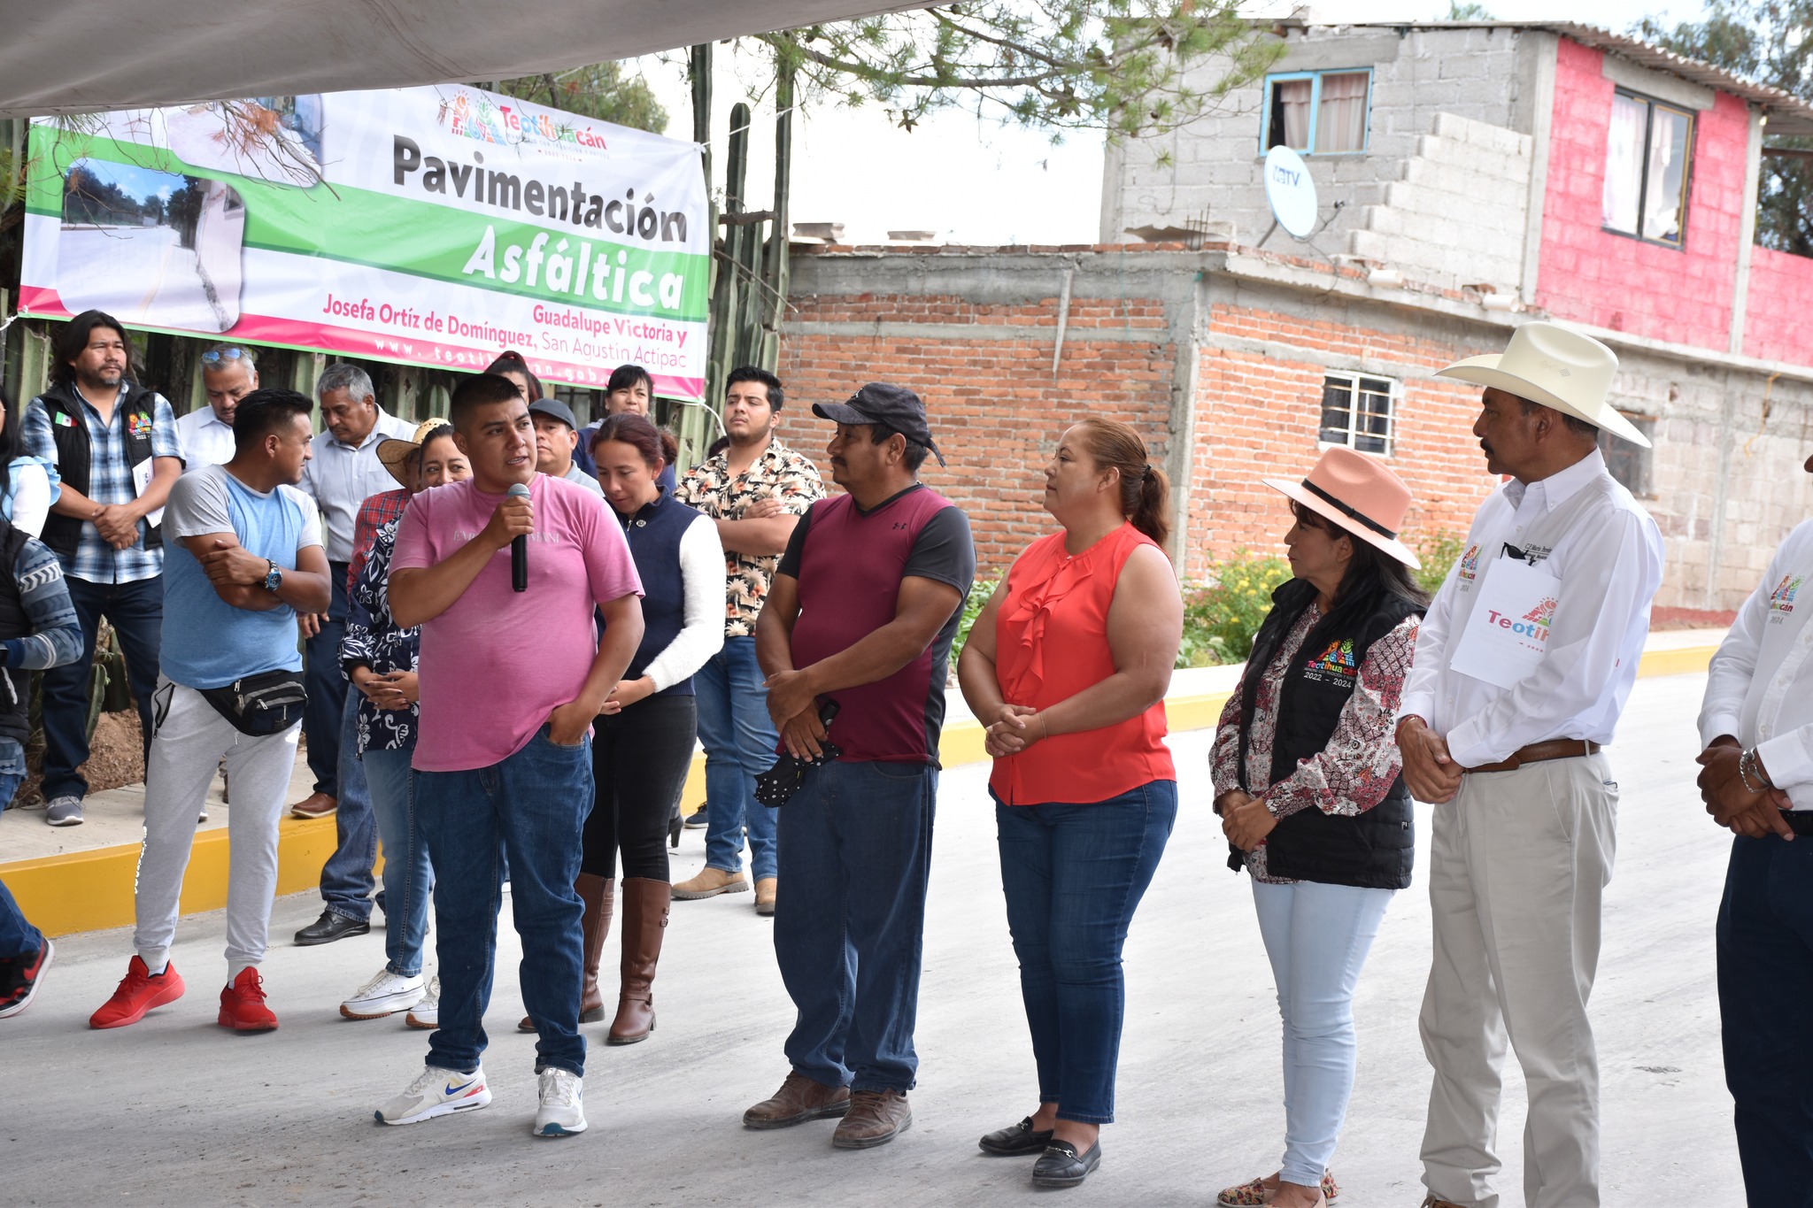
[[[1726,842],[1695,801],[1692,719],[1702,676],[1637,685],[1614,764],[1621,851],[1594,996],[1605,1069],[1605,1203],[1740,1204],[1713,992]],[[1275,1170],[1282,1148],[1278,1020],[1246,878],[1224,868],[1206,806],[1206,733],[1175,739],[1186,810],[1128,944],[1128,1016],[1104,1163],[1064,1204],[1213,1204]],[[189,996],[143,1023],[91,1032],[129,935],[73,936],[44,996],[0,1023],[7,1204],[1001,1204],[1030,1203],[1024,1161],[975,1137],[1033,1105],[983,795],[986,770],[945,777],[919,1011],[914,1128],[870,1152],[830,1125],[756,1134],[742,1110],[785,1074],[790,1021],[767,920],[751,895],[676,902],[656,983],[658,1029],[609,1049],[587,1025],[591,1130],[529,1137],[533,1041],[519,1036],[508,925],[488,1021],[493,1105],[415,1128],[372,1108],[415,1074],[424,1032],[354,1023],[337,1003],[383,964],[383,935],[288,947],[308,895],[277,904],[265,965],[281,1031],[214,1027],[221,918],[181,927]],[[680,877],[700,862],[682,840]],[[785,893],[785,887],[783,887]],[[615,936],[613,936],[615,940]],[[1342,1208],[1416,1204],[1429,1074],[1416,1007],[1429,960],[1421,873],[1398,895],[1360,987],[1360,1081],[1336,1177]],[[1505,1096],[1503,1194],[1521,1203],[1521,1081]]]

